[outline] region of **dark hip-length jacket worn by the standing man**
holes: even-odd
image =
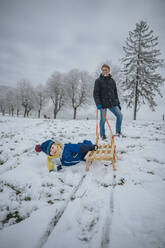
[[[102,74],[95,81],[93,97],[96,103],[102,108],[111,108],[120,104],[115,80],[109,74],[104,77]]]

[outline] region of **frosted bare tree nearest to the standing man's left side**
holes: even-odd
[[[89,73],[73,69],[66,75],[67,95],[73,108],[73,119],[76,119],[77,109],[89,99]]]

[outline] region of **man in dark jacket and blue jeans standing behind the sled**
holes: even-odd
[[[96,79],[93,97],[97,106],[100,110],[100,136],[104,140],[105,135],[105,117],[107,109],[109,109],[116,116],[116,135],[121,135],[121,123],[122,113],[121,106],[117,94],[116,83],[110,74],[110,67],[106,64],[101,67],[102,73],[100,77]]]

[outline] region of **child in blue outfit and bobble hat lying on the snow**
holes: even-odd
[[[77,144],[65,144],[64,148],[58,141],[47,140],[41,145],[35,146],[36,152],[43,151],[47,156],[47,167],[49,172],[54,170],[54,164],[52,159],[56,160],[57,171],[62,169],[62,165],[71,166],[80,162],[85,161],[84,157],[88,151],[97,150],[98,146],[93,145],[90,140],[84,140],[83,143]]]

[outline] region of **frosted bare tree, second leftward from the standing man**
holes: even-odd
[[[64,76],[54,72],[47,82],[47,93],[54,105],[54,119],[65,104]]]

